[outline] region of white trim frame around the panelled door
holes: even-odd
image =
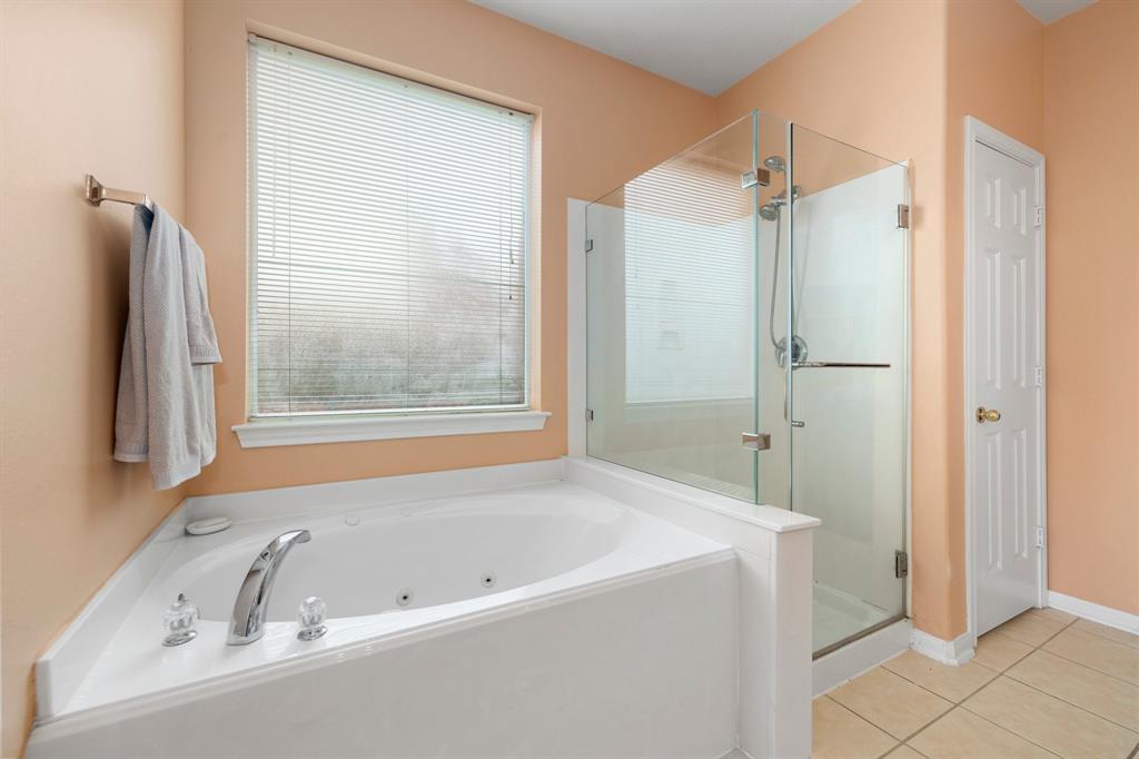
[[[980,119],[974,116],[965,117],[965,582],[966,582],[966,613],[968,629],[967,634],[972,639],[973,644],[976,644],[977,638],[977,593],[976,593],[976,572],[974,570],[974,545],[973,545],[973,524],[974,520],[974,508],[976,504],[973,503],[973,426],[976,421],[970,416],[972,410],[976,407],[976,393],[973,387],[973,351],[976,345],[974,345],[973,334],[976,325],[976,313],[974,312],[976,308],[975,293],[973,292],[973,234],[975,231],[976,220],[973,214],[973,202],[976,195],[976,187],[974,186],[973,174],[976,168],[976,153],[977,145],[984,145],[999,153],[1019,161],[1034,170],[1036,180],[1036,193],[1038,197],[1041,198],[1041,207],[1044,209],[1044,223],[1040,226],[1040,272],[1036,277],[1036,302],[1039,308],[1039,320],[1040,320],[1040,360],[1041,366],[1047,366],[1044,358],[1046,348],[1046,274],[1047,274],[1047,245],[1046,245],[1046,227],[1047,227],[1047,202],[1044,201],[1044,156],[1043,154],[1032,149],[1027,145],[1013,139],[1008,134],[990,126]],[[1048,376],[1047,370],[1044,373],[1043,386],[1040,389],[1040,393],[1036,398],[1036,413],[1040,419],[1040,450],[1039,450],[1039,465],[1036,467],[1039,478],[1039,489],[1040,493],[1039,503],[1036,504],[1036,524],[1044,528],[1044,545],[1040,548],[1036,556],[1036,606],[1048,605],[1048,530],[1047,530],[1047,516],[1048,516],[1048,434],[1046,424],[1046,398],[1048,392]]]

